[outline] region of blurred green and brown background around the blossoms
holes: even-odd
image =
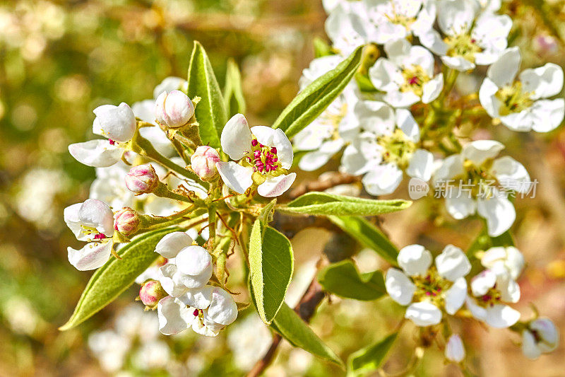
[[[564,1],[509,1],[503,10],[513,18],[511,44],[521,47],[523,66],[564,66]],[[133,312],[141,315],[141,304],[133,303],[133,288],[78,329],[57,330],[90,276],[67,261],[66,246],[78,243],[62,213],[64,207],[88,197],[94,169],[76,162],[67,146],[93,137],[92,110],[98,105],[152,98],[153,88],[165,77],[186,76],[193,40],[206,48],[220,85],[227,58],[235,59],[242,70],[246,116],[251,124],[270,124],[296,94],[301,71],[314,57],[312,40],[326,38],[325,18],[319,0],[1,2],[0,376],[239,376],[251,368],[270,343],[256,317],[244,318],[244,313],[239,325],[216,339],[191,334],[165,339],[147,330],[141,319],[137,327],[130,323],[131,328],[124,329],[126,306],[135,305]],[[471,85],[462,79],[458,84]],[[517,204],[516,243],[528,260],[518,308],[527,318],[528,303],[535,302],[562,330],[565,133],[562,127],[548,135],[502,128],[484,132],[502,141],[507,152],[540,180],[536,198]],[[394,196],[407,197],[405,192]],[[425,242],[438,250],[446,243],[465,248],[480,231],[478,222],[465,226],[431,213],[419,202],[409,211],[386,216],[383,226],[400,246]],[[292,240],[297,265],[302,266],[292,291],[296,297],[311,279],[322,241],[328,239],[327,233],[319,232],[316,237],[299,233]],[[313,245],[312,239],[319,241]],[[371,252],[357,259],[367,269],[383,265]],[[334,299],[323,303],[313,325],[346,358],[386,335],[401,313],[390,300]],[[154,320],[152,314],[148,315]],[[106,332],[100,335],[100,330]],[[528,361],[513,344],[518,337],[510,332],[487,332],[472,323],[463,323],[460,330],[474,349],[471,369],[480,374],[564,376],[562,346],[550,356]],[[408,364],[414,331],[408,327],[403,332],[386,365],[388,371]],[[97,335],[89,341],[93,332]],[[561,332],[561,340],[564,337]],[[268,376],[343,373],[288,344],[281,349]],[[439,352],[432,351],[417,373],[458,375],[441,360]]]

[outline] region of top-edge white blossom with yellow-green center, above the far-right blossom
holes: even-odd
[[[438,54],[446,66],[458,71],[496,62],[508,44],[512,21],[489,8],[480,12],[480,8],[477,0],[437,1],[438,24],[445,37],[430,28],[419,36],[420,42]]]

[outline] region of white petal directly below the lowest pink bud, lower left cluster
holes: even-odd
[[[189,328],[194,321],[190,308],[178,298],[167,296],[157,303],[157,317],[159,318],[159,331],[164,335],[177,334]]]

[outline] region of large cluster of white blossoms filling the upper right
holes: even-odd
[[[343,151],[340,171],[363,175],[364,188],[371,195],[394,192],[403,172],[424,182],[433,175],[440,190],[443,180],[473,185],[471,195],[451,190],[446,197],[448,213],[464,219],[478,212],[487,219],[490,236],[507,231],[515,211],[509,199],[496,195],[497,187],[528,192],[525,168],[510,157],[493,164],[492,158],[504,148],[496,141],[475,141],[460,153],[444,156],[430,147],[435,143],[429,139],[429,124],[422,124],[427,120],[415,120],[410,107],[445,96],[458,71],[470,73],[477,65],[490,65],[479,93],[487,114],[515,131],[549,132],[564,118],[564,100],[547,99],[561,91],[561,68],[548,63],[526,69],[515,79],[521,57],[517,47],[507,48],[512,22],[496,14],[500,1],[326,0],[323,4],[328,12],[326,32],[336,54],[314,59],[304,69],[301,87],[335,68],[361,45],[382,45],[386,57],[368,69],[375,91],[360,91],[355,82],[350,83],[296,135],[295,148],[306,151],[299,168],[316,170]],[[420,45],[411,43],[415,41]],[[444,75],[436,73],[434,54],[451,69],[446,75],[452,80],[448,88]],[[484,192],[479,178],[494,182],[494,187]]]

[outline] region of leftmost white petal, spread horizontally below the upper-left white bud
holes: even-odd
[[[122,150],[107,140],[95,139],[69,145],[69,153],[86,166],[107,168],[119,161]]]

